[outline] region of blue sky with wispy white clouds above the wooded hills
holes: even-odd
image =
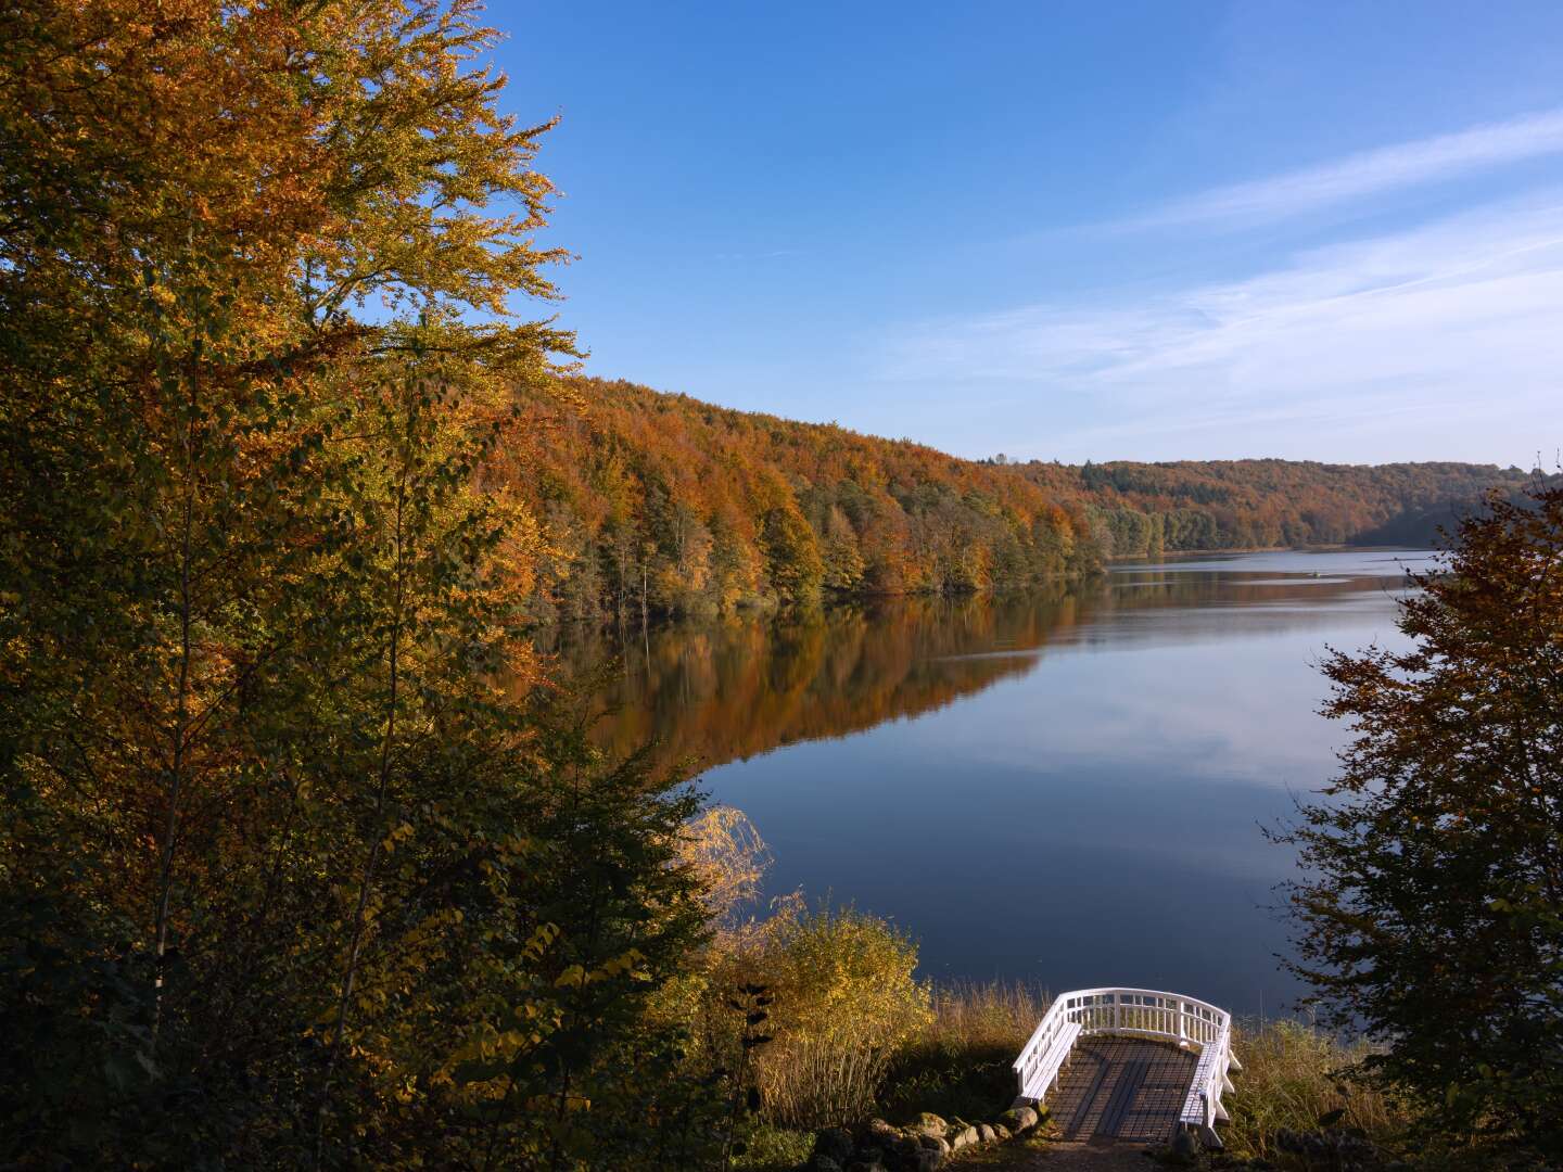
[[[1563,445],[1563,5],[488,17],[591,373],[964,456]]]

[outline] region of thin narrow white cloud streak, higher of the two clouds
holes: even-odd
[[[1252,225],[1558,153],[1563,153],[1563,109],[1552,109],[1454,134],[1364,150],[1335,163],[1252,183],[1211,188],[1113,227]]]

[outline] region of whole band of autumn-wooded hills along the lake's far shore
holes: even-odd
[[[574,403],[522,392],[536,448],[497,469],[542,527],[541,619],[1025,586],[1177,550],[1415,544],[1532,480],[1449,463],[967,461],[633,383],[567,386]]]

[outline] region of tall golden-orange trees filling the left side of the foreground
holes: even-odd
[[[486,473],[574,342],[514,313],[563,255],[494,33],[0,42],[0,1164],[630,1159],[691,803],[511,699],[538,525]]]

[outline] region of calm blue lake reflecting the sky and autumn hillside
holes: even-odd
[[[772,892],[853,903],[938,980],[1125,984],[1275,1013],[1268,842],[1332,774],[1327,647],[1399,645],[1424,550],[1119,564],[1049,591],[636,631],[602,686],[769,842]],[[585,670],[603,638],[561,649]]]

